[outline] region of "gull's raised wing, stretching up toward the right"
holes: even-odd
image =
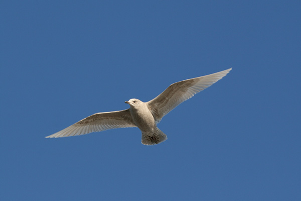
[[[147,102],[148,108],[153,113],[158,123],[165,115],[171,112],[182,102],[211,86],[226,76],[230,70],[232,70],[232,68],[210,75],[173,83],[160,95]]]

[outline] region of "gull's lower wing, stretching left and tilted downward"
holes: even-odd
[[[129,110],[96,113],[46,138],[85,135],[108,129],[136,127]]]

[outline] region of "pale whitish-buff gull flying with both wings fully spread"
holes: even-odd
[[[131,98],[125,103],[127,110],[96,113],[46,138],[85,135],[108,129],[138,127],[143,145],[156,145],[167,140],[157,127],[161,119],[196,93],[211,86],[227,75],[232,68],[210,75],[186,79],[171,84],[165,91],[148,102]]]

